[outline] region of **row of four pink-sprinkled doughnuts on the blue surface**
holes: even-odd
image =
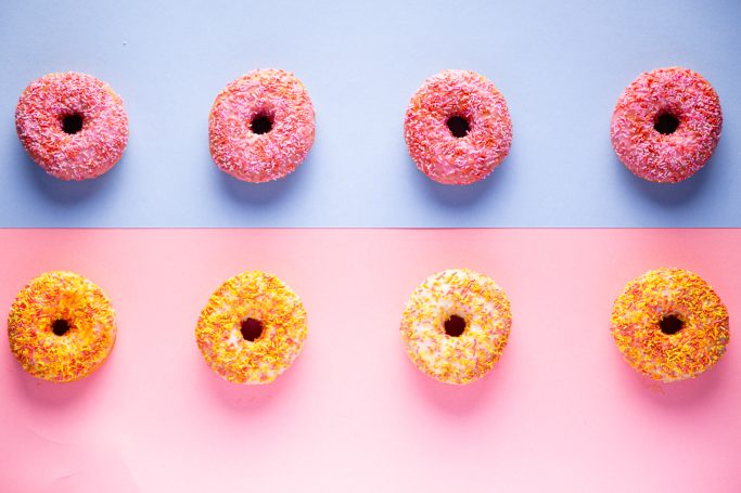
[[[122,157],[128,118],[122,99],[86,74],[54,73],[21,95],[15,124],[30,157],[62,180],[97,178]],[[675,183],[710,159],[720,137],[718,95],[681,67],[638,76],[617,100],[610,134],[636,176]],[[504,96],[486,77],[444,70],[414,92],[404,137],[417,167],[432,180],[470,184],[508,155],[512,124]],[[315,138],[315,112],[304,85],[279,69],[258,69],[216,96],[208,117],[212,157],[248,182],[277,180],[304,161]]]

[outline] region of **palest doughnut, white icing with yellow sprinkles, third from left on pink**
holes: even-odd
[[[462,385],[491,369],[511,325],[509,299],[494,281],[450,269],[417,286],[401,317],[401,338],[419,369],[445,384]]]

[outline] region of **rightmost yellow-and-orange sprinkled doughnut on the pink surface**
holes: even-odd
[[[726,351],[728,311],[699,275],[656,269],[630,281],[615,300],[612,335],[638,372],[655,380],[683,380]]]

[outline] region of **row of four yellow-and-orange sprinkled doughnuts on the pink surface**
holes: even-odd
[[[729,339],[728,311],[713,288],[681,269],[656,269],[617,297],[611,332],[625,360],[663,381],[713,366]],[[450,269],[425,278],[401,316],[407,353],[420,371],[446,384],[482,378],[510,335],[510,301],[491,278]],[[210,368],[229,381],[268,384],[288,369],[308,329],[298,295],[274,275],[248,271],[208,299],[195,340]],[[72,381],[94,372],[116,339],[114,309],[79,274],[47,272],[17,294],[8,319],[11,351],[29,374]]]

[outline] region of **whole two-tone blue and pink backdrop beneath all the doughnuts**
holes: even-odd
[[[69,385],[0,351],[0,491],[741,491],[734,329],[716,368],[670,386],[609,334],[625,283],[661,265],[713,284],[731,326],[741,310],[741,230],[664,229],[741,228],[739,26],[736,0],[0,0],[0,320],[64,269],[105,289],[119,327]],[[609,122],[639,73],[672,65],[714,85],[725,122],[703,170],[657,185],[619,164]],[[213,164],[207,117],[264,67],[306,85],[317,139],[288,179],[247,184]],[[490,78],[512,115],[510,156],[468,187],[425,178],[403,138],[409,98],[445,68]],[[64,70],[108,82],[129,115],[123,160],[94,181],[48,177],[15,134],[26,85]],[[305,229],[337,226],[356,229]],[[458,226],[473,230],[393,230]],[[480,230],[500,226],[518,230]],[[602,229],[520,229],[582,226]],[[453,267],[513,307],[502,360],[461,388],[420,374],[398,335],[414,286]],[[193,335],[247,269],[309,315],[266,387],[221,380]]]

